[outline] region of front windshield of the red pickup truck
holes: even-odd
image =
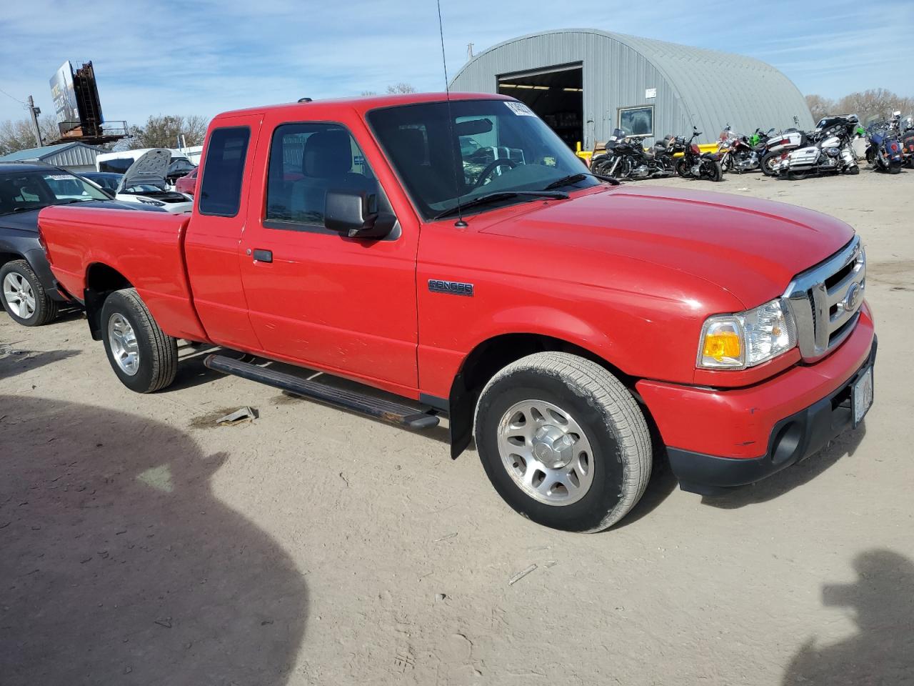
[[[569,190],[596,186],[568,145],[524,103],[427,102],[367,115],[410,197],[426,219],[492,193],[544,190],[574,176]],[[552,188],[557,188],[553,186]],[[505,196],[505,202],[523,201]],[[473,211],[484,211],[474,208]]]

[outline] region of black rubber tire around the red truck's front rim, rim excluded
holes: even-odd
[[[502,461],[499,427],[515,403],[526,400],[567,411],[590,442],[592,481],[575,502],[547,504],[527,495]],[[495,374],[476,406],[475,436],[499,495],[515,511],[553,529],[611,527],[642,497],[651,476],[651,437],[632,394],[597,363],[569,353],[529,355]]]

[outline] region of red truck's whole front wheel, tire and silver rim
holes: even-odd
[[[495,490],[553,529],[602,531],[642,497],[651,438],[632,394],[589,359],[527,356],[489,381],[476,447]]]

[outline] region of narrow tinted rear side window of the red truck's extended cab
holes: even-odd
[[[247,126],[215,129],[210,134],[200,183],[200,214],[217,217],[238,214],[249,140]]]

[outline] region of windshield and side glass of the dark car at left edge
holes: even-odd
[[[0,175],[0,214],[85,200],[110,200],[99,188],[62,169]]]

